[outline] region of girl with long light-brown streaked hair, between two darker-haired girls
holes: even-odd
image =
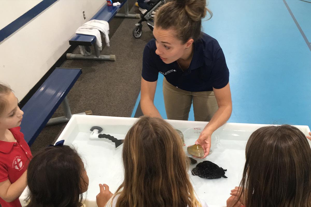
[[[100,184],[99,207],[202,206],[190,183],[181,138],[165,120],[138,119],[125,137],[122,157],[124,181],[114,196]]]

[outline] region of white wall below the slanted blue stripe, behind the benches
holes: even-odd
[[[29,5],[34,2],[23,1]],[[10,2],[15,4],[14,0]],[[106,0],[59,0],[0,42],[0,81],[9,84],[21,100],[66,52],[76,29],[105,3]],[[8,9],[15,12],[12,5]],[[16,11],[16,16],[21,16],[20,11]]]

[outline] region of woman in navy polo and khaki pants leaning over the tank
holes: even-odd
[[[229,70],[216,39],[201,32],[206,0],[171,0],[155,15],[154,39],[147,43],[142,63],[141,108],[144,115],[161,117],[153,101],[158,74],[164,75],[163,95],[168,119],[209,121],[195,144],[211,148],[211,134],[232,112]]]

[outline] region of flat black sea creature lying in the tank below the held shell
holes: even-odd
[[[191,170],[191,173],[200,178],[216,179],[221,177],[227,178],[225,176],[225,171],[227,170],[219,167],[217,164],[205,160],[197,164],[197,166]]]

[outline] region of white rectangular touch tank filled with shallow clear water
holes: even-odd
[[[74,115],[57,141],[65,139],[65,144],[77,149],[84,160],[87,174],[90,178],[86,196],[87,206],[96,206],[96,195],[99,193],[99,183],[109,185],[109,190],[115,192],[123,181],[122,149],[123,144],[115,148],[108,139],[90,139],[90,128],[100,126],[101,133],[110,134],[117,139],[124,139],[128,129],[136,121],[135,118]],[[184,135],[184,151],[194,144],[206,122],[168,120],[174,128]],[[194,190],[202,203],[209,206],[225,206],[230,196],[230,190],[239,185],[245,163],[245,146],[248,137],[260,124],[227,123],[217,129],[211,137],[210,154],[196,160],[209,160],[223,169],[227,169],[228,178],[206,179],[191,174],[196,164],[190,165],[189,174]],[[301,126],[307,133],[309,128]],[[189,155],[189,154],[188,154]],[[190,156],[190,155],[189,155]],[[21,196],[23,198],[25,192]]]

